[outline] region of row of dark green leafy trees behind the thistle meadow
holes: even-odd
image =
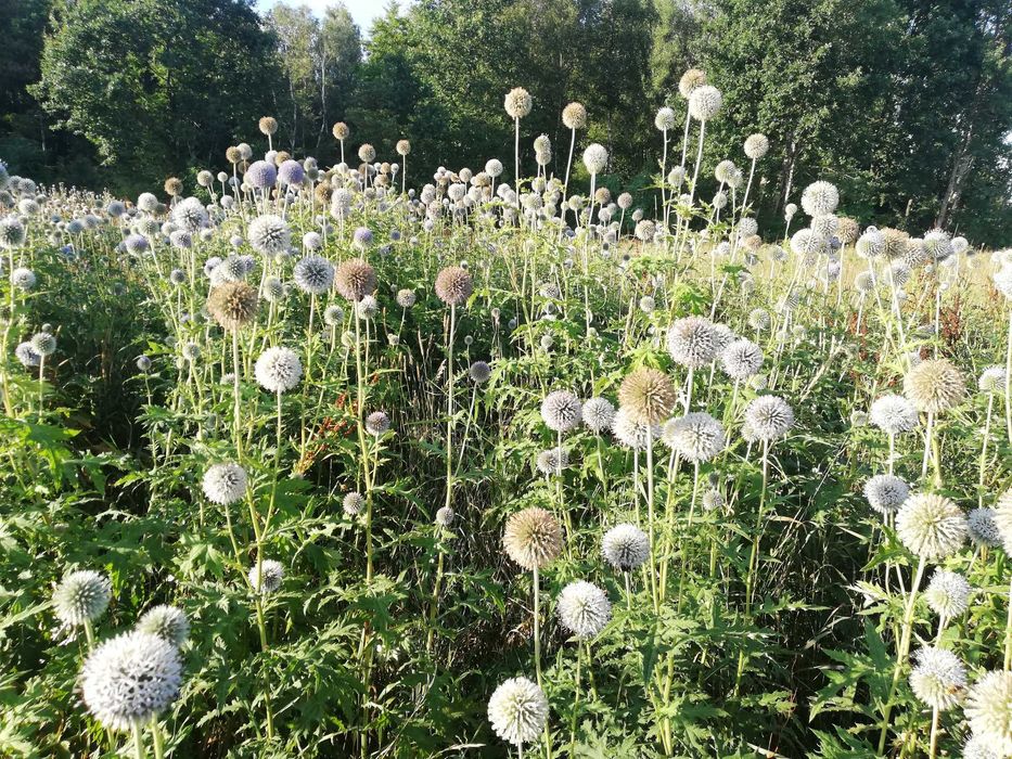
[[[641,190],[652,213],[653,116],[681,117],[677,81],[694,65],[725,93],[709,155],[742,164],[750,132],[770,137],[755,196],[768,228],[824,178],[866,222],[999,246],[1012,239],[1010,23],[1008,0],[420,0],[392,3],[367,39],[336,0],[322,17],[247,0],[0,0],[0,157],[136,193],[223,167],[240,140],[261,146],[269,114],[276,146],[324,165],[337,120],[382,159],[408,138],[420,183],[438,165],[509,158],[502,98],[523,86],[530,166],[545,133],[564,172],[561,112],[578,100],[580,141],[612,155],[605,181]]]

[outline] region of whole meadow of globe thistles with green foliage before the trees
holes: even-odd
[[[420,188],[0,170],[0,755],[1012,756],[1012,252],[759,229],[679,90],[650,211],[521,88]]]

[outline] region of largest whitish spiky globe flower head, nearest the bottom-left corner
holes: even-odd
[[[88,711],[116,731],[150,722],[176,700],[181,683],[182,661],[176,646],[158,635],[136,631],[92,651],[80,679]]]

